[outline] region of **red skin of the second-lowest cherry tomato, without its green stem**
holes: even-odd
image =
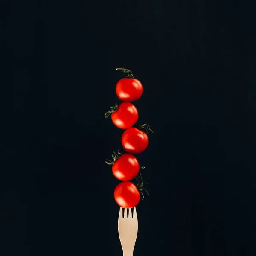
[[[122,181],[134,179],[140,170],[140,164],[132,154],[123,154],[112,166],[113,175]]]

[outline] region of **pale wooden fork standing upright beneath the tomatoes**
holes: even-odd
[[[120,207],[118,217],[118,233],[122,245],[123,256],[133,256],[134,246],[138,233],[138,218],[134,207],[133,217],[131,208],[125,209],[124,218],[122,217],[122,207]]]

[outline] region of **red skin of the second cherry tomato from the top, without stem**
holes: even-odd
[[[111,114],[114,125],[121,129],[128,129],[135,125],[139,118],[137,108],[130,102],[122,102],[118,105],[115,113]]]

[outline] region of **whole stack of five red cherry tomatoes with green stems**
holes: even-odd
[[[139,113],[131,102],[140,99],[143,93],[141,82],[134,78],[131,70],[125,68],[116,70],[121,70],[126,76],[116,84],[116,95],[123,102],[110,107],[111,110],[105,114],[105,117],[108,118],[111,115],[113,124],[118,128],[125,129],[121,143],[127,153],[121,154],[119,150],[117,153],[113,151],[113,161],[107,160],[105,163],[112,165],[113,175],[122,180],[114,191],[116,203],[123,208],[132,208],[140,202],[140,193],[144,198],[143,189],[148,193],[143,187],[141,176],[141,169],[144,169],[144,166],[140,167],[134,154],[140,154],[147,148],[147,133],[153,131],[146,124],[140,125],[138,128],[133,127],[138,120]],[[137,185],[130,181],[133,179],[137,179]]]

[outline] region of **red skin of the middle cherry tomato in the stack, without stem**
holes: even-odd
[[[148,146],[148,135],[135,127],[131,127],[122,134],[122,146],[130,154],[140,154]]]

